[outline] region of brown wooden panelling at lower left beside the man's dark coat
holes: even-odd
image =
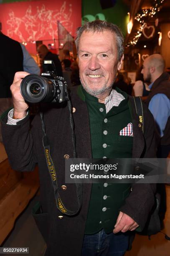
[[[11,169],[3,143],[0,143],[0,244],[3,243],[18,215],[39,188],[38,168],[33,172]]]

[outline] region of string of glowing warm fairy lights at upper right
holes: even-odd
[[[137,33],[134,34],[134,37],[126,44],[127,47],[134,46],[137,44],[140,36],[142,36],[142,30],[147,25],[146,18],[152,18],[156,13],[160,11],[160,6],[162,5],[164,0],[155,0],[153,3],[153,7],[150,9],[142,9],[139,13],[135,16],[135,20],[140,23],[140,28],[138,29]]]

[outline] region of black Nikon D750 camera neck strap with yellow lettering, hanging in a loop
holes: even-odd
[[[69,105],[71,104],[70,102],[68,102]],[[70,107],[69,107],[70,109]],[[71,110],[71,109],[70,109]],[[70,115],[72,116],[72,113],[70,112]],[[48,171],[49,171],[49,174],[50,174],[50,177],[51,177],[51,183],[52,183],[52,186],[53,186],[53,189],[54,189],[54,196],[55,196],[55,199],[56,199],[56,204],[57,204],[57,208],[58,210],[60,210],[61,213],[65,214],[65,215],[76,215],[81,207],[82,207],[82,202],[83,202],[83,187],[82,187],[82,184],[78,184],[76,183],[76,192],[77,192],[77,199],[78,199],[78,209],[76,211],[71,211],[71,210],[68,210],[66,208],[66,206],[63,204],[62,200],[61,200],[61,197],[59,195],[59,192],[58,192],[58,184],[57,184],[57,175],[56,175],[56,169],[55,169],[55,166],[53,164],[53,159],[51,157],[51,153],[50,153],[50,143],[49,143],[49,140],[48,140],[48,137],[46,135],[46,131],[45,131],[45,124],[44,124],[44,121],[43,121],[43,113],[40,112],[40,117],[41,117],[41,123],[42,123],[42,130],[43,130],[43,148],[44,148],[44,154],[45,154],[45,157],[46,157],[46,164],[47,164],[47,167],[48,167]],[[75,149],[75,134],[74,133],[74,130],[73,130],[73,117],[70,117],[70,121],[71,121],[71,128],[72,128],[72,142],[74,143],[74,158],[76,158],[76,149]]]

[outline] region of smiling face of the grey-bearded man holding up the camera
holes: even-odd
[[[84,89],[91,95],[109,95],[116,78],[116,36],[110,31],[83,32],[79,41],[79,72]]]

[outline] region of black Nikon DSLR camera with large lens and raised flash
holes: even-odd
[[[66,82],[58,77],[52,60],[45,60],[41,75],[30,74],[23,78],[20,92],[24,100],[30,103],[57,102],[68,100]]]

